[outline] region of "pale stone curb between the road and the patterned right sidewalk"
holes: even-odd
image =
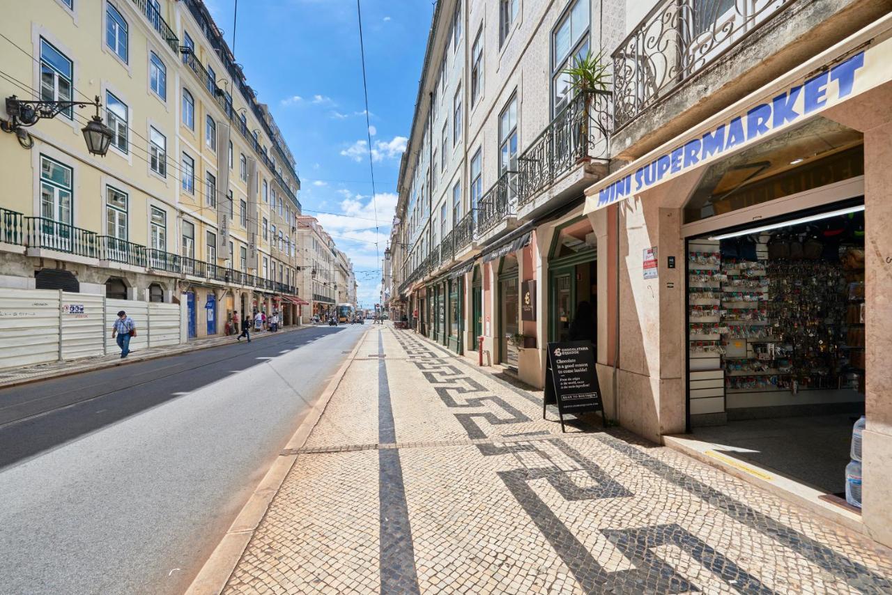
[[[341,384],[343,376],[347,373],[359,347],[366,339],[366,335],[371,329],[367,329],[359,337],[356,347],[353,348],[350,355],[341,364],[341,368],[335,372],[335,376],[326,386],[325,390],[319,394],[318,399],[313,403],[310,413],[304,417],[301,425],[294,431],[291,439],[285,445],[283,451],[301,449],[310,438],[310,433],[318,424],[319,419],[325,412],[328,401],[331,401],[338,386]],[[280,454],[275,462],[269,467],[267,474],[263,476],[257,489],[244,503],[244,507],[235,517],[232,525],[229,525],[227,533],[220,540],[217,547],[211,552],[202,569],[198,571],[194,581],[186,590],[186,595],[218,595],[226,587],[229,577],[235,570],[235,566],[242,558],[248,542],[251,541],[254,531],[260,526],[260,521],[266,516],[269,504],[275,498],[285,481],[285,476],[291,471],[294,461],[297,459],[296,454]]]

